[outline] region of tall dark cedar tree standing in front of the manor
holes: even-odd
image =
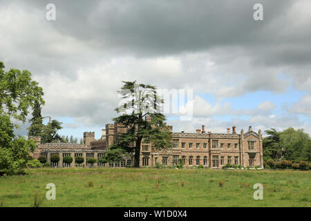
[[[157,150],[171,146],[170,128],[164,125],[165,116],[160,113],[162,99],[156,93],[156,87],[149,84],[136,84],[136,81],[123,81],[119,94],[126,101],[115,108],[119,117],[113,120],[126,126],[126,133],[117,135],[111,148],[122,148],[135,153],[134,166],[140,165],[140,145],[149,140]],[[135,144],[135,145],[133,145]]]

